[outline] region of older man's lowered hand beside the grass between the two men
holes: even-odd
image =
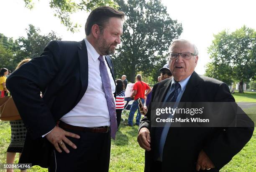
[[[146,127],[141,128],[141,130],[139,131],[137,141],[138,141],[140,147],[142,147],[144,150],[147,150],[147,151],[151,150],[151,148],[150,148],[150,142],[151,142],[150,132]]]

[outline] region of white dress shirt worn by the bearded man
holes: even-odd
[[[100,55],[86,38],[84,41],[88,52],[88,87],[79,103],[60,120],[80,127],[110,126],[107,100],[100,76],[100,60],[98,60]],[[115,81],[105,58],[104,62],[108,70],[112,93],[114,93]]]

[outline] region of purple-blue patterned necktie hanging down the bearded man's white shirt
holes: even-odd
[[[112,95],[108,70],[105,65],[103,56],[100,55],[100,57],[98,59],[100,60],[100,76],[101,76],[103,90],[105,92],[105,97],[106,97],[107,104],[108,104],[108,112],[110,115],[110,135],[115,140],[115,134],[117,132],[115,101],[114,101],[114,97]]]

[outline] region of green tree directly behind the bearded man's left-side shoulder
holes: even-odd
[[[20,51],[17,53],[15,62],[18,63],[24,58],[33,58],[41,55],[44,47],[51,40],[61,40],[61,37],[56,36],[56,33],[51,31],[47,35],[40,35],[40,29],[33,25],[29,25],[27,37],[19,37],[17,42]]]

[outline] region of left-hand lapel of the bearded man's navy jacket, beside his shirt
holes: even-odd
[[[84,93],[87,90],[88,86],[88,53],[84,40],[80,42],[78,48],[78,57],[80,62],[80,80],[82,86],[77,99],[77,101],[79,102],[84,96]]]

